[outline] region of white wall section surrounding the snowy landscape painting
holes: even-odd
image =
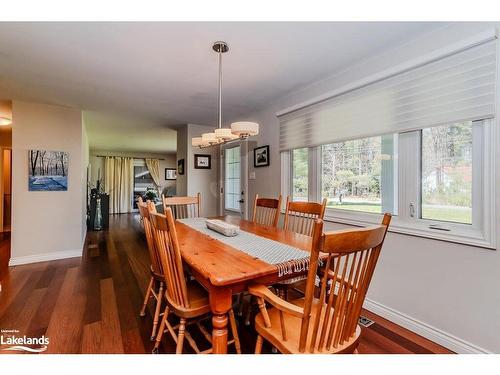
[[[14,101],[11,265],[80,256],[85,162],[79,110]],[[69,153],[68,191],[28,191],[28,150]]]

